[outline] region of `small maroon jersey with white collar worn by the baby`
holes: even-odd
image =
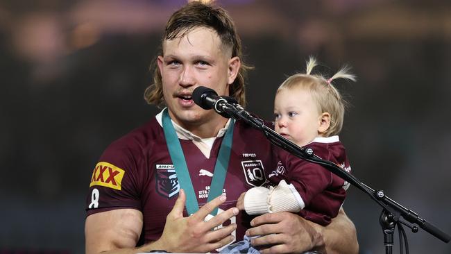
[[[319,158],[350,172],[346,151],[338,136],[316,138],[304,146],[307,147],[313,149]],[[305,203],[300,216],[323,226],[329,224],[343,204],[348,183],[321,165],[301,160],[281,149],[277,153],[278,168],[269,174],[269,182],[273,185],[278,185],[280,180],[291,183]]]

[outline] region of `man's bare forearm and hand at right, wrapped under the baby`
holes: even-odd
[[[271,245],[270,248],[263,249],[262,253],[301,253],[314,250],[332,254],[359,251],[355,226],[343,209],[326,227],[289,212],[263,214],[253,219],[251,226],[255,228],[246,231],[246,235],[264,235],[252,239],[253,245]]]

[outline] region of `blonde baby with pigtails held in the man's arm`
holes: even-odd
[[[332,81],[337,78],[355,81],[355,76],[348,74],[345,67],[325,78],[312,74],[315,66],[316,60],[311,57],[305,74],[290,76],[278,88],[274,101],[275,131],[349,172],[350,164],[338,136],[346,101]],[[279,162],[268,176],[272,186],[254,187],[241,194],[237,208],[251,215],[296,212],[309,221],[329,224],[337,216],[349,184],[321,165],[282,149],[275,152]]]

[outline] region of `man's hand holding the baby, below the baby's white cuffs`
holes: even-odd
[[[249,237],[262,235],[251,240],[254,246],[268,244],[261,253],[301,253],[303,251],[321,251],[325,253],[321,226],[290,212],[263,214],[250,221],[246,231]],[[315,226],[316,225],[316,226]]]

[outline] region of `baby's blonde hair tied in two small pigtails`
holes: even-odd
[[[343,99],[337,88],[332,85],[332,81],[337,78],[345,78],[355,81],[356,78],[350,74],[349,67],[344,66],[331,78],[326,79],[321,74],[312,74],[312,70],[317,66],[316,59],[310,56],[307,61],[307,69],[305,74],[294,74],[289,76],[278,88],[276,94],[283,89],[301,88],[309,91],[316,105],[318,105],[319,113],[328,112],[330,114],[330,126],[323,133],[325,137],[338,135],[343,127],[343,119],[345,114],[345,106],[347,102]]]

